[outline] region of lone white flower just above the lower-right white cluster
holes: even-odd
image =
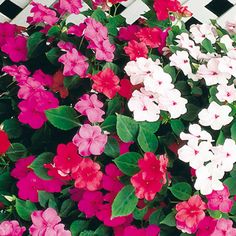
[[[198,114],[199,123],[203,126],[211,126],[214,130],[220,130],[233,120],[233,117],[229,116],[230,112],[229,106],[219,105],[213,101],[207,109],[201,110]]]

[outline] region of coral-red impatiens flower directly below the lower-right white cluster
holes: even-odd
[[[199,223],[204,219],[206,204],[199,195],[194,195],[188,201],[176,205],[176,227],[183,233],[193,234]]]

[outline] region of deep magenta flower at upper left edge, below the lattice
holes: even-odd
[[[9,38],[2,46],[2,51],[8,54],[13,62],[20,62],[27,60],[27,40],[23,36]]]

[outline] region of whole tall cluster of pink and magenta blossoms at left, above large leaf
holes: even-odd
[[[52,86],[53,78],[42,70],[36,70],[32,77],[28,69],[21,66],[5,66],[4,72],[15,77],[20,87],[18,97],[23,99],[18,104],[21,113],[18,119],[33,129],[39,129],[47,121],[45,110],[56,108],[59,101],[45,87]]]

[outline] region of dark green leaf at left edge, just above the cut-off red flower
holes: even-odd
[[[3,129],[7,132],[10,139],[19,138],[22,134],[21,125],[15,118],[5,120],[3,122]]]

